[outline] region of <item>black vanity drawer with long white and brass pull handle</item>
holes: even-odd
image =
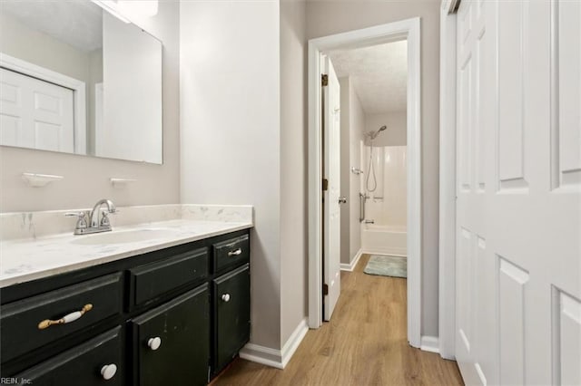
[[[88,305],[90,304],[90,305]],[[43,323],[58,321],[65,315],[74,319],[68,323]],[[121,273],[87,280],[45,294],[39,294],[2,306],[2,361],[52,343],[65,336],[80,332],[103,319],[120,314],[122,309]],[[41,329],[41,323],[44,324]]]

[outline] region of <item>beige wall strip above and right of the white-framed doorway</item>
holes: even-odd
[[[314,1],[307,38],[339,34],[411,17],[421,18],[422,334],[438,336],[438,93],[439,2]]]

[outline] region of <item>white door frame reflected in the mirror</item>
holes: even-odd
[[[32,76],[44,82],[51,82],[73,90],[74,100],[74,154],[87,153],[86,140],[86,99],[84,82],[54,72],[34,63],[26,62],[6,53],[0,53],[0,65],[8,70]]]

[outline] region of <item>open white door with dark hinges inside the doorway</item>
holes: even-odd
[[[330,320],[339,300],[340,285],[340,86],[337,74],[325,58],[325,69],[329,83],[323,87],[323,178],[329,187],[323,192],[323,283],[328,294],[323,294],[323,319]]]

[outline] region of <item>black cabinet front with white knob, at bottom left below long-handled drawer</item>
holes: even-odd
[[[102,333],[11,379],[34,386],[123,386],[125,363],[120,333],[120,327]]]

